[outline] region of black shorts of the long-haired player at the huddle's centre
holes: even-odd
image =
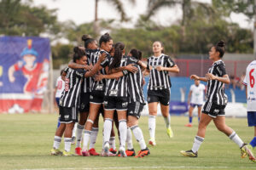
[[[127,111],[128,98],[105,96],[103,105],[106,111]]]

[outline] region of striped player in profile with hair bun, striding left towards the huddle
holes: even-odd
[[[224,62],[221,60],[224,56],[224,41],[218,42],[209,52],[209,58],[213,64],[206,74],[206,77],[191,75],[194,80],[207,82],[207,102],[203,107],[198,131],[195,136],[194,144],[191,150],[181,151],[183,156],[197,157],[207,130],[207,125],[213,121],[219,131],[226,134],[241,149],[241,157],[248,154],[250,160],[255,160],[251,150],[245,144],[236,132],[225,124],[225,111],[227,105],[227,96],[224,94],[224,84],[230,83],[230,78],[226,73]]]

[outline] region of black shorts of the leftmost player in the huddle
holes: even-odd
[[[62,107],[60,106],[60,122],[71,123],[79,120],[78,107]]]

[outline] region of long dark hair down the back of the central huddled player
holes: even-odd
[[[117,42],[114,45],[113,60],[112,60],[112,63],[109,65],[110,71],[114,68],[119,67],[119,65],[121,63],[122,56],[123,56],[124,49],[125,49],[125,44],[123,42]]]

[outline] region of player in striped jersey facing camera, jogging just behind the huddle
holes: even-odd
[[[172,138],[171,117],[169,114],[170,88],[172,86],[169,72],[178,73],[179,69],[170,56],[162,54],[164,47],[161,42],[153,43],[154,56],[148,58],[146,74],[149,73],[148,82],[148,130],[149,144],[155,145],[155,116],[157,105],[160,103],[161,113],[166,122],[167,135]]]

